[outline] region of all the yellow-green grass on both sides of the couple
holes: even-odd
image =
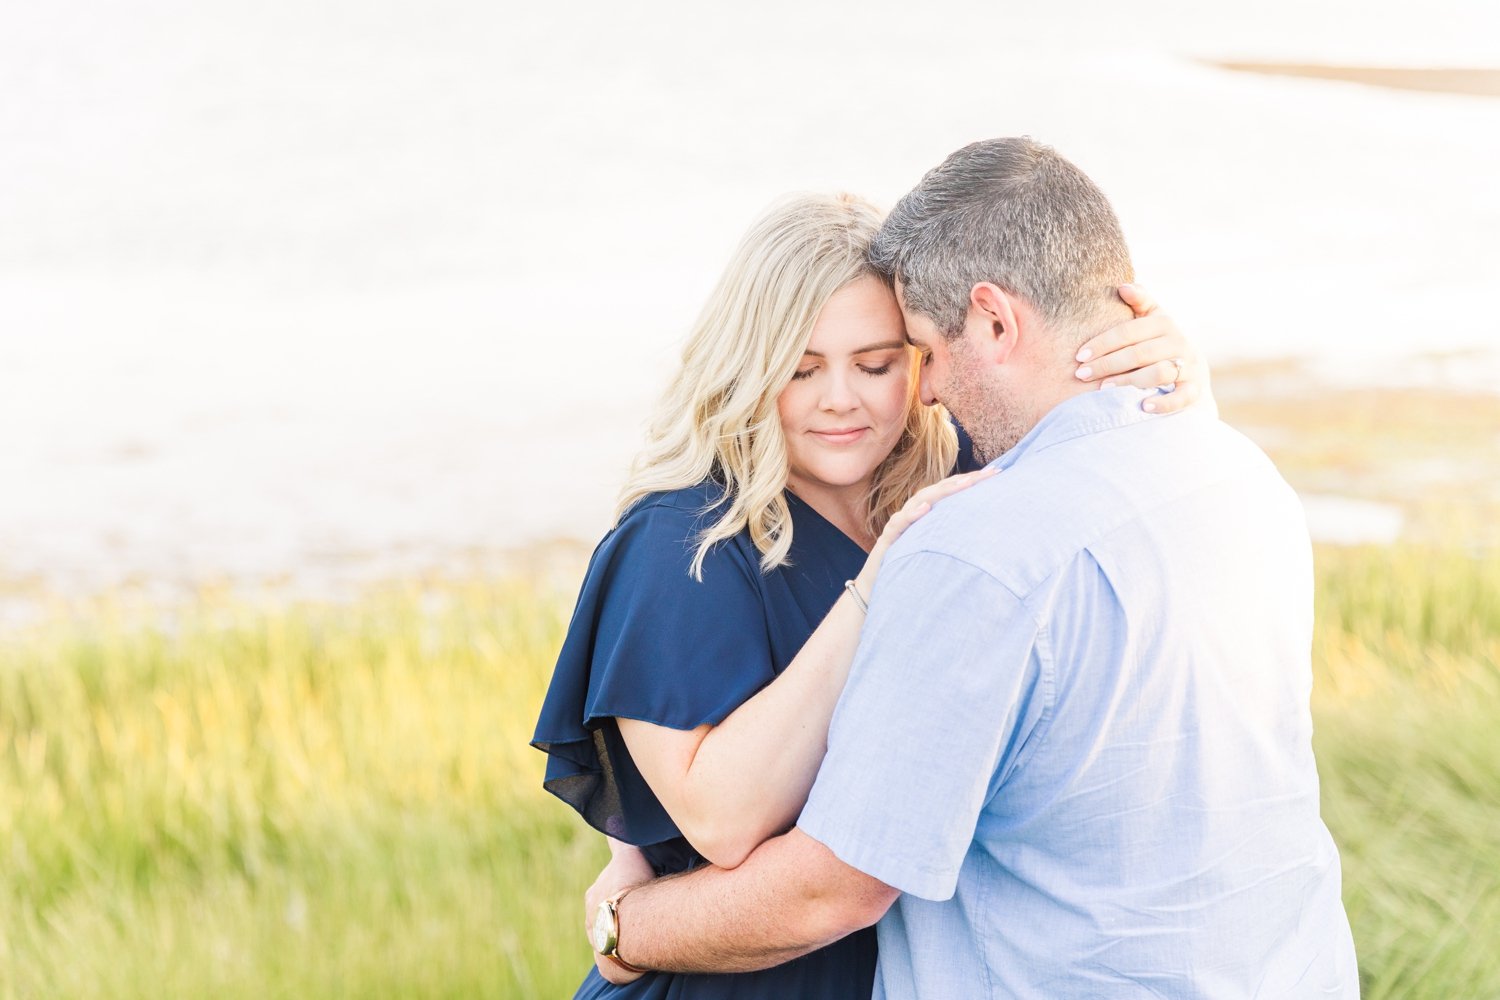
[[[1500,561],[1323,550],[1366,997],[1500,997]],[[204,595],[0,642],[0,1000],[564,997],[597,837],[526,747],[567,597]]]

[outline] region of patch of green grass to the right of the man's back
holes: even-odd
[[[1500,997],[1500,558],[1320,553],[1323,817],[1366,1000]]]

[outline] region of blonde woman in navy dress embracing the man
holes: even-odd
[[[855,198],[802,196],[750,229],[590,562],[532,744],[549,754],[546,787],[612,838],[610,868],[634,880],[738,865],[795,822],[880,558],[988,475],[942,480],[958,441],[921,405],[900,309],[866,259],[879,222]],[[1132,360],[1185,349],[1148,319],[1090,346],[1113,343],[1138,343]],[[870,930],[759,973],[615,987],[596,969],[578,996],[862,1000],[873,970]]]

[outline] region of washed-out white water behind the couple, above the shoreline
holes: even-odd
[[[1500,384],[1500,100],[1215,58],[1500,66],[1500,6],[12,10],[0,579],[318,591],[597,538],[750,219],[993,135],[1100,181],[1216,364]]]

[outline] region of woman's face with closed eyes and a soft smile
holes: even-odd
[[[777,397],[788,484],[798,496],[862,496],[906,426],[910,364],[902,310],[880,279],[861,277],[834,292]]]

